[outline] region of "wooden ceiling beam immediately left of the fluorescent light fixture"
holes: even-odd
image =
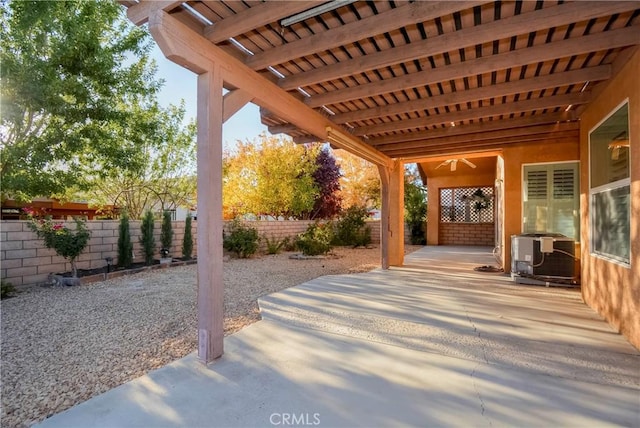
[[[204,35],[213,43],[219,43],[238,34],[246,33],[281,18],[312,8],[324,1],[268,1],[260,3],[234,16],[207,27]]]

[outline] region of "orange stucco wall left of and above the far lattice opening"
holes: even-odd
[[[440,226],[440,189],[448,187],[493,187],[495,170],[477,173],[474,170],[455,175],[427,179],[427,245],[438,245]]]

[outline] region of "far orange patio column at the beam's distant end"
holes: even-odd
[[[379,166],[382,187],[380,247],[382,268],[404,263],[404,164]]]

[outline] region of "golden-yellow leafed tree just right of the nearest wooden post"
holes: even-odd
[[[315,151],[291,140],[262,134],[253,142],[239,142],[237,153],[226,153],[224,159],[225,217],[304,215],[319,195],[316,169]]]

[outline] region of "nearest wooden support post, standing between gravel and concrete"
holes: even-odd
[[[198,75],[198,358],[223,353],[222,73]]]

